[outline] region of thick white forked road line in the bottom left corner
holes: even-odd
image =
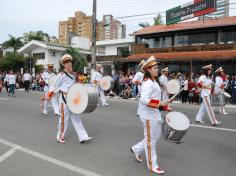
[[[41,154],[41,153],[38,153],[38,152],[35,152],[33,150],[30,150],[30,149],[27,149],[27,148],[24,148],[24,147],[21,147],[19,145],[16,145],[14,143],[11,143],[9,141],[6,141],[4,139],[1,139],[0,138],[0,143],[2,144],[5,144],[7,146],[10,146],[10,147],[13,147],[11,150],[9,150],[6,154],[4,154],[5,156],[8,157],[8,155],[12,155],[16,150],[20,150],[22,152],[25,152],[29,155],[32,155],[34,157],[37,157],[39,159],[42,159],[44,161],[47,161],[47,162],[50,162],[52,164],[55,164],[55,165],[58,165],[60,167],[63,167],[63,168],[66,168],[68,170],[71,170],[71,171],[74,171],[74,172],[77,172],[79,174],[82,174],[84,176],[103,176],[103,175],[100,175],[100,174],[97,174],[95,172],[92,172],[92,171],[89,171],[89,170],[86,170],[86,169],[83,169],[83,168],[80,168],[80,167],[77,167],[77,166],[74,166],[72,164],[69,164],[69,163],[66,163],[66,162],[63,162],[63,161],[60,161],[60,160],[57,160],[55,158],[52,158],[52,157],[49,157],[47,155],[44,155],[44,154]],[[4,157],[5,157],[4,156]],[[2,156],[3,157],[3,156]],[[2,158],[1,157],[1,158]],[[6,157],[4,158],[6,159]],[[0,160],[1,162],[1,160]]]

